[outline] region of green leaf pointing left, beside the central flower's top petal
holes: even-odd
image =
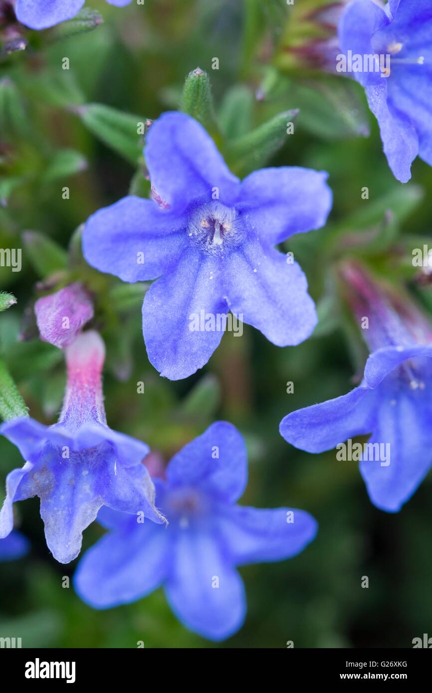
[[[143,146],[145,118],[101,103],[88,103],[74,109],[74,112],[98,139],[136,166]]]

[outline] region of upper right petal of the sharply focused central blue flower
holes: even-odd
[[[241,184],[239,205],[261,242],[277,245],[293,234],[320,229],[331,210],[325,171],[281,166],[263,168]]]

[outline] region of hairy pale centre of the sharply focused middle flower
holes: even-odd
[[[239,213],[221,202],[202,204],[194,209],[187,233],[193,245],[209,254],[223,254],[225,249],[240,245],[245,236]]]

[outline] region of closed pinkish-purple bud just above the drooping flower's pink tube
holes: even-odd
[[[94,315],[92,301],[79,283],[38,299],[35,314],[40,338],[55,347],[69,347]]]

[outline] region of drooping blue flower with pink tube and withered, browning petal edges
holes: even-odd
[[[68,383],[60,420],[42,426],[33,419],[14,419],[0,432],[14,443],[26,464],[6,480],[0,512],[0,538],[12,530],[12,503],[35,495],[46,544],[60,563],[80,552],[83,530],[102,505],[137,513],[156,523],[155,489],[141,464],[148,446],[107,427],[101,371],[105,347],[98,333],[79,335],[65,351]]]

